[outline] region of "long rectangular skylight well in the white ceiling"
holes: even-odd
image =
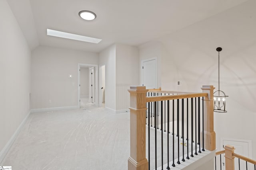
[[[92,37],[86,37],[83,35],[77,35],[72,33],[66,33],[62,31],[56,31],[53,29],[47,29],[47,35],[54,36],[54,37],[61,37],[61,38],[67,38],[67,39],[74,39],[78,41],[85,41],[88,43],[96,43],[98,44],[102,39],[92,38]]]

